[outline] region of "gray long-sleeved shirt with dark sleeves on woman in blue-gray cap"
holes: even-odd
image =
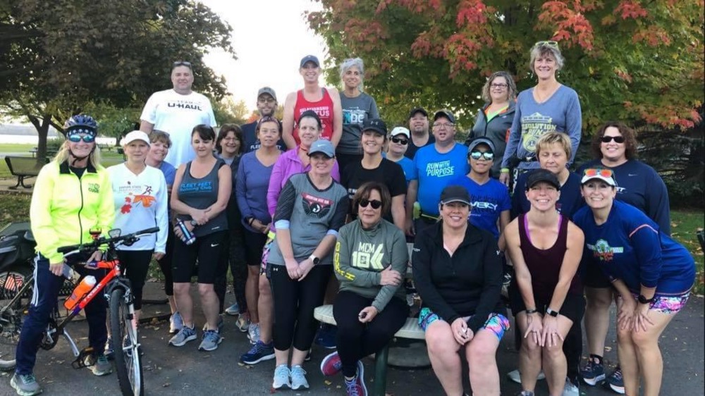
[[[303,261],[313,254],[329,231],[338,233],[345,224],[348,205],[348,192],[335,180],[326,189],[318,190],[308,173],[298,173],[289,178],[279,195],[274,223],[289,221],[291,249],[296,261]],[[319,265],[332,264],[331,253],[321,257]],[[278,238],[274,239],[267,261],[277,266],[285,265]]]

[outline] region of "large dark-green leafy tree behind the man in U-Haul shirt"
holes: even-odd
[[[0,112],[25,116],[39,133],[62,131],[68,116],[90,106],[141,108],[171,86],[171,62],[187,60],[194,88],[216,100],[223,78],[204,66],[219,47],[235,57],[231,27],[189,0],[8,0],[0,5]]]

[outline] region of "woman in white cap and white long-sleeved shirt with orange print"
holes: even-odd
[[[133,245],[118,248],[118,259],[125,268],[125,276],[130,279],[135,296],[133,322],[137,327],[149,262],[152,257],[159,260],[166,253],[168,194],[164,174],[145,162],[149,154],[147,133],[133,130],[125,135],[121,144],[127,161],[108,168],[115,203],[114,228],[127,234],[151,226],[159,227],[156,235],[141,237]]]

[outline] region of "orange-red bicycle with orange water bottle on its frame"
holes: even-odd
[[[94,240],[82,245],[71,245],[59,247],[57,251],[63,253],[64,257],[73,254],[90,254],[101,246],[108,249],[101,261],[88,264],[91,268],[105,268],[110,270],[106,276],[87,294],[80,297],[78,303],[68,316],[63,318],[61,323],[56,322],[59,317],[58,308],[54,309],[54,315],[49,320],[47,330],[44,331],[44,338],[39,347],[44,350],[53,349],[59,342],[59,336],[63,335],[71,347],[75,360],[71,363],[73,369],[85,367],[85,358],[94,351],[92,347],[78,350],[71,335],[66,331],[66,325],[88,304],[99,292],[103,291],[109,302],[109,323],[111,330],[111,347],[115,351],[115,366],[118,373],[118,383],[123,395],[144,395],[145,384],[142,380],[142,359],[140,358],[140,339],[137,336],[137,328],[133,326],[133,315],[135,307],[133,305],[133,295],[130,288],[130,280],[123,276],[120,261],[117,259],[116,248],[120,245],[129,246],[137,242],[140,237],[157,233],[158,227],[147,228],[127,235],[120,235],[120,230],[110,230],[108,237],[94,235]],[[70,269],[70,268],[69,268]],[[64,271],[65,276],[70,276]],[[6,281],[2,287],[0,295],[0,370],[9,371],[15,368],[15,351],[22,323],[25,314],[29,311],[32,299],[32,287],[34,285],[34,273],[24,278],[15,277],[12,282]],[[9,301],[6,298],[10,298]],[[122,351],[122,353],[119,353]]]

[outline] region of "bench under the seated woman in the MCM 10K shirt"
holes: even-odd
[[[411,250],[413,244],[407,244],[409,249],[409,260],[411,261]],[[407,273],[410,276],[411,271]],[[404,287],[403,285],[401,287]],[[333,317],[333,305],[321,305],[313,311],[314,318],[321,323],[328,323],[335,326],[336,318]],[[396,338],[407,338],[410,340],[425,340],[424,330],[419,327],[418,318],[407,318],[404,326],[394,334]],[[387,360],[389,358],[389,345],[385,345],[381,351],[374,355],[374,390],[373,396],[385,396],[387,386]]]

